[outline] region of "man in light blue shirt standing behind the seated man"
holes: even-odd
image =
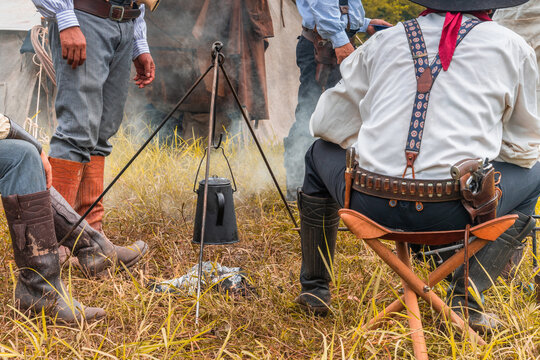
[[[304,154],[315,140],[309,133],[309,119],[321,93],[341,79],[337,65],[354,51],[350,38],[357,32],[373,35],[373,25],[391,26],[366,18],[360,0],[297,0],[296,6],[302,16],[302,35],[296,46],[300,88],[296,121],[283,139],[288,200],[296,199],[296,189],[302,186]]]

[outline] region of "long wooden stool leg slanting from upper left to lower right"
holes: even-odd
[[[463,320],[450,309],[416,274],[403,264],[383,243],[376,239],[364,239],[366,244],[375,251],[385,263],[388,264],[403,280],[409,284],[411,289],[437,312],[449,318],[461,331],[468,329],[469,336],[476,340],[479,345],[486,345],[486,342],[470,327],[466,327]]]

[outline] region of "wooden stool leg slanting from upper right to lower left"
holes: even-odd
[[[473,256],[478,251],[480,251],[484,246],[489,243],[487,240],[476,239],[469,244],[469,255]],[[448,276],[452,271],[454,271],[459,265],[463,264],[463,255],[465,249],[461,249],[454,255],[452,255],[448,260],[446,260],[441,266],[437,267],[432,273],[429,274],[427,285],[433,287]],[[402,296],[400,299],[395,300],[393,303],[388,305],[379,315],[371,319],[367,325],[367,329],[376,329],[378,328],[382,321],[392,316],[393,313],[398,313],[403,310],[403,303],[405,299]]]

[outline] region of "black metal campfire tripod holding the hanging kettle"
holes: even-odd
[[[152,141],[152,139],[157,135],[159,130],[165,125],[165,123],[173,116],[173,114],[178,111],[180,106],[186,101],[186,99],[193,93],[195,88],[201,83],[201,81],[208,75],[208,73],[213,70],[213,81],[212,81],[212,95],[210,99],[210,118],[208,121],[208,146],[206,149],[207,157],[206,157],[206,167],[205,167],[205,182],[204,182],[204,196],[203,196],[203,216],[202,216],[202,228],[201,228],[201,242],[200,242],[200,252],[199,252],[199,269],[198,269],[198,284],[197,284],[197,304],[196,304],[196,311],[195,311],[195,323],[198,324],[199,321],[199,303],[200,303],[200,294],[201,294],[201,277],[202,277],[202,259],[203,259],[203,250],[204,250],[204,228],[206,224],[206,210],[207,210],[207,202],[208,202],[208,177],[210,174],[210,150],[214,146],[214,130],[215,130],[215,122],[216,122],[216,103],[217,103],[217,89],[219,84],[219,74],[221,70],[221,73],[223,74],[227,85],[232,92],[234,96],[234,100],[236,105],[238,106],[238,109],[242,113],[242,117],[247,125],[247,128],[249,129],[249,132],[253,138],[253,141],[255,142],[257,149],[264,161],[264,164],[266,165],[266,168],[268,169],[268,172],[270,173],[270,176],[272,177],[272,181],[274,182],[274,185],[276,186],[276,189],[281,197],[281,200],[283,201],[283,204],[285,205],[285,208],[289,214],[289,217],[294,225],[294,228],[298,228],[298,225],[296,223],[296,219],[294,218],[294,215],[291,211],[291,208],[289,204],[287,203],[285,196],[283,195],[283,191],[281,190],[276,176],[270,167],[270,163],[268,162],[268,159],[266,155],[264,154],[264,151],[261,147],[261,144],[259,140],[257,139],[257,136],[255,135],[255,130],[253,129],[253,126],[251,125],[249,118],[246,114],[245,109],[242,107],[242,104],[240,102],[240,99],[238,97],[238,94],[236,90],[234,89],[231,79],[229,78],[227,72],[225,71],[225,68],[223,67],[223,63],[225,62],[225,55],[222,53],[223,50],[223,44],[219,41],[215,42],[212,45],[212,64],[208,67],[208,69],[193,83],[193,85],[188,89],[186,94],[178,101],[178,103],[175,105],[175,107],[165,116],[165,118],[162,120],[162,122],[159,124],[159,126],[154,130],[154,132],[150,135],[150,137],[144,142],[144,144],[137,150],[137,152],[133,155],[133,157],[126,163],[126,165],[120,170],[120,172],[114,177],[114,179],[111,181],[111,183],[103,190],[101,195],[98,196],[98,198],[94,201],[94,203],[86,210],[86,212],[81,216],[81,218],[73,225],[71,230],[64,236],[64,238],[59,242],[59,246],[62,245],[77,229],[77,227],[83,222],[83,220],[88,216],[88,214],[92,211],[92,209],[103,199],[105,194],[109,192],[109,190],[114,186],[114,184],[120,179],[120,177],[124,174],[124,172],[131,166],[131,164],[137,159],[137,157],[140,155],[140,153],[146,148],[146,146]]]

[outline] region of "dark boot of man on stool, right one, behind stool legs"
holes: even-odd
[[[481,303],[468,294],[469,326],[479,333],[491,333],[500,326],[497,315],[484,313],[483,292],[493,285],[504,270],[514,252],[523,246],[523,240],[535,226],[532,216],[515,212],[518,218],[514,225],[506,230],[497,240],[487,244],[469,261],[469,285],[479,295]],[[461,265],[456,269],[450,284],[450,304],[454,311],[461,313],[465,306],[465,270]],[[453,291],[452,291],[453,289]]]

